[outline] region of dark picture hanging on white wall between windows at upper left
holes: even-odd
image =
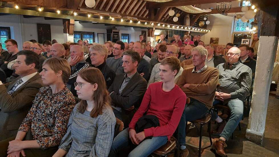
[[[51,41],[51,31],[49,24],[37,23],[38,42],[43,43],[45,40]]]

